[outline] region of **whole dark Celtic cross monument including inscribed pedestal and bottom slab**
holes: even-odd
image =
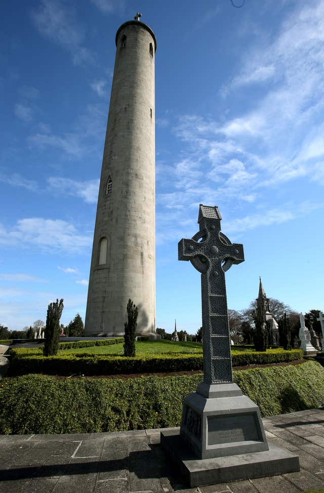
[[[161,432],[161,445],[190,487],[299,471],[298,456],[269,447],[259,407],[233,383],[225,271],[244,252],[220,221],[217,207],[200,204],[198,233],[178,244],[179,260],[201,273],[204,381],[184,400],[180,432]]]

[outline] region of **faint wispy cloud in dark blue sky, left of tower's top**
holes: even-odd
[[[94,55],[84,46],[85,31],[76,20],[76,11],[59,0],[42,0],[32,12],[38,31],[67,50],[75,65],[92,63]]]

